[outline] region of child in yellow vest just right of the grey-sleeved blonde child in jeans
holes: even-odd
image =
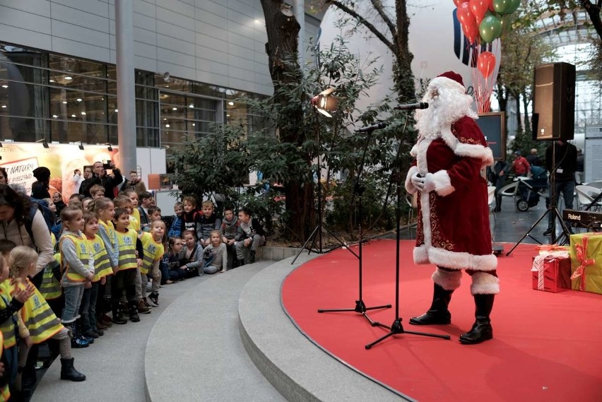
[[[113,274],[111,261],[105,243],[97,234],[98,233],[98,218],[91,212],[83,213],[83,234],[85,239],[90,244],[92,249],[92,258],[94,260],[94,278],[89,283],[85,284],[83,297],[81,298],[81,332],[83,336],[90,338],[98,338],[104,335],[102,330],[96,325],[96,299],[98,297],[99,285],[104,285],[107,282],[107,276]]]

